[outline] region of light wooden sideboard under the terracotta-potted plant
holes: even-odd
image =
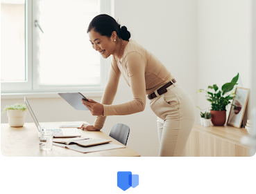
[[[249,147],[240,143],[244,135],[249,135],[246,128],[194,124],[187,140],[186,156],[248,157]]]

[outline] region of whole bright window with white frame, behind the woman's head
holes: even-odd
[[[1,0],[1,93],[103,90],[110,59],[86,32],[100,12],[110,1]]]

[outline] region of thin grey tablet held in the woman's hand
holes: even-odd
[[[83,105],[82,99],[88,101],[81,93],[58,93],[62,99],[65,99],[68,104],[73,106],[76,110],[89,110],[85,105]]]

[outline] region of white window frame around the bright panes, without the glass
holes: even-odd
[[[111,3],[112,0],[98,0],[99,1],[99,13],[105,13],[111,15]],[[100,57],[101,66],[101,84],[99,86],[39,86],[37,84],[37,64],[33,59],[33,30],[38,30],[35,27],[33,18],[33,0],[25,0],[25,65],[26,65],[26,80],[25,81],[1,81],[1,95],[8,94],[21,94],[21,93],[58,93],[58,92],[75,92],[80,91],[83,93],[103,93],[105,85],[108,81],[108,70],[110,68],[110,57],[103,59]]]

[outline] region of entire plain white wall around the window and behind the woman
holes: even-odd
[[[251,0],[117,0],[114,18],[167,66],[196,106],[207,108],[203,95],[196,94],[198,88],[213,84],[221,87],[237,72],[243,86],[250,88],[250,3]],[[100,97],[91,98],[101,101]],[[121,77],[114,104],[131,98],[130,88]],[[94,122],[89,112],[73,110],[60,98],[28,100],[40,122]],[[16,102],[23,99],[1,99],[1,110]],[[199,115],[198,110],[196,123]],[[7,122],[4,114],[1,123]],[[33,122],[30,115],[26,122]],[[108,117],[102,131],[109,134],[116,123],[130,126],[128,147],[142,156],[158,155],[156,117],[148,101],[142,113]]]

